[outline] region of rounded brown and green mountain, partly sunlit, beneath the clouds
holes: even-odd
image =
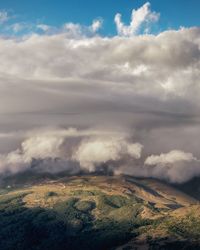
[[[200,249],[199,201],[179,189],[130,176],[2,179],[0,249]]]

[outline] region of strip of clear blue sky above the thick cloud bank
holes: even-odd
[[[90,25],[92,20],[104,20],[101,33],[116,34],[114,16],[122,14],[128,24],[132,9],[138,9],[145,0],[1,0],[0,10],[7,11],[12,18],[8,23],[45,23],[61,26],[66,22]],[[155,31],[178,29],[180,26],[200,25],[199,0],[150,0],[151,10],[160,13]]]

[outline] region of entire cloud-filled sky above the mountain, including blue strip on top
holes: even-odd
[[[117,2],[117,3],[116,3]],[[200,176],[199,1],[1,1],[0,177]]]

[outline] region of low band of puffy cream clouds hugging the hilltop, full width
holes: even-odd
[[[189,152],[173,150],[145,159],[143,145],[124,131],[93,129],[32,130],[32,134],[8,154],[0,155],[0,173],[26,170],[69,174],[95,173],[154,177],[182,183],[200,175],[199,160]]]

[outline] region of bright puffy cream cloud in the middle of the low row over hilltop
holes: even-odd
[[[83,168],[94,171],[96,165],[117,162],[126,156],[139,159],[142,145],[129,143],[126,138],[118,137],[97,137],[82,141],[75,150],[73,159],[78,161]]]

